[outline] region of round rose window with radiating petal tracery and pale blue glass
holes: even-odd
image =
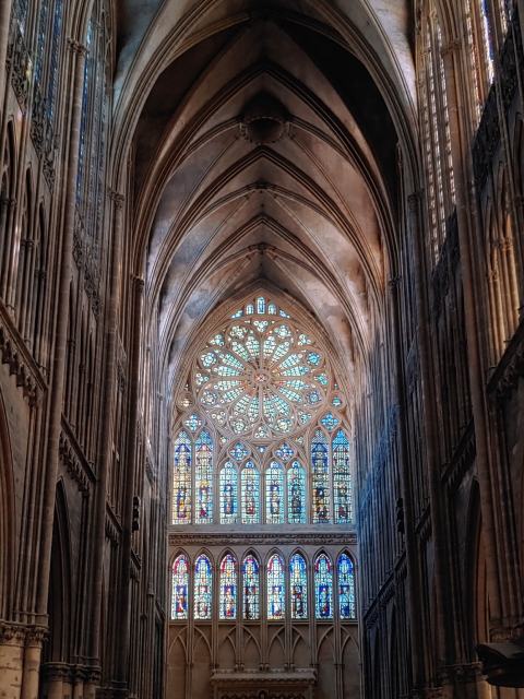
[[[272,439],[303,427],[326,404],[326,370],[314,340],[289,316],[265,303],[257,311],[248,306],[209,339],[193,379],[216,425]]]

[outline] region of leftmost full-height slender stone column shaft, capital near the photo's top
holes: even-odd
[[[63,383],[66,370],[66,344],[68,339],[69,285],[73,252],[74,211],[76,205],[76,176],[79,169],[80,127],[82,118],[82,94],[84,87],[84,66],[87,49],[78,42],[68,40],[68,50],[72,54],[74,71],[73,95],[71,103],[71,131],[69,134],[69,162],[66,179],[64,222],[61,237],[61,266],[58,294],[57,324],[55,329],[55,355],[52,358],[52,382],[50,390],[50,414],[46,474],[44,481],[44,501],[41,511],[41,545],[38,566],[38,590],[36,599],[37,619],[47,625],[47,602],[49,595],[49,569],[51,561],[52,525],[55,518],[55,498],[57,469],[59,459],[60,423],[63,404]]]

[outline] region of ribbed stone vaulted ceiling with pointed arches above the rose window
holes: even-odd
[[[121,1],[115,112],[171,376],[258,280],[322,323],[348,375],[368,355],[415,118],[408,4]]]

